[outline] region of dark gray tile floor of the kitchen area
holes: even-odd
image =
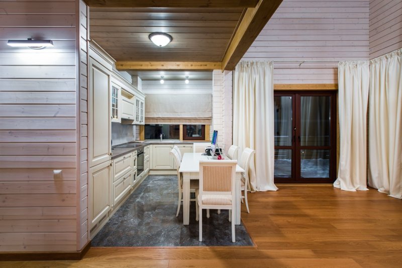
[[[190,204],[189,225],[177,210],[177,176],[150,175],[92,239],[92,246],[251,246],[243,224],[236,225],[232,243],[228,211],[211,210],[203,216],[203,241],[198,241],[195,204]]]

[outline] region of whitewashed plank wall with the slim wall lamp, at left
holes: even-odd
[[[77,249],[75,11],[0,3],[0,251]],[[54,47],[7,46],[27,38]]]

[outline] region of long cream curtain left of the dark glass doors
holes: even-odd
[[[251,191],[276,191],[273,183],[273,62],[241,61],[234,77],[233,144],[239,153],[255,149],[250,161]]]

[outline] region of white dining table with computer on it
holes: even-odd
[[[203,153],[184,153],[179,172],[183,174],[183,224],[188,225],[190,214],[190,180],[199,180],[199,160],[209,160]],[[219,160],[217,160],[219,161]],[[235,224],[240,224],[240,179],[244,169],[236,165],[236,217]]]

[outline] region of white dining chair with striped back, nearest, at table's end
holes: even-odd
[[[235,196],[237,160],[199,161],[199,188],[196,190],[199,241],[203,241],[203,209],[228,209],[232,212],[232,242],[235,238]]]

